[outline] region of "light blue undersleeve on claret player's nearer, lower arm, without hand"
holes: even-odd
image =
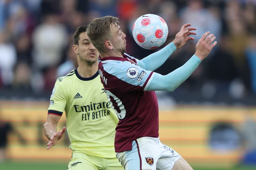
[[[154,73],[154,77],[146,90],[172,92],[196,70],[200,63],[201,60],[196,55],[193,55],[183,66],[167,75]]]

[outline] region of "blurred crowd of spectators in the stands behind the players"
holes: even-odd
[[[132,38],[134,21],[147,13],[166,21],[165,45],[183,24],[197,28],[195,41],[177,50],[158,73],[184,64],[206,31],[217,37],[214,51],[171,95],[243,100],[256,94],[256,0],[1,0],[0,93],[49,95],[56,78],[77,67],[75,29],[105,15],[120,18],[128,54],[141,59],[159,50],[140,48]]]

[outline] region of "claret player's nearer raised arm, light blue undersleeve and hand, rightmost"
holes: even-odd
[[[183,83],[194,72],[194,70],[196,70],[201,61],[207,57],[212,48],[217,44],[217,41],[214,41],[216,37],[213,34],[208,35],[209,33],[210,32],[204,33],[202,38],[197,42],[196,53],[188,60],[187,63],[164,76],[154,73],[154,77],[146,90],[163,90],[172,92],[181,83]],[[212,41],[214,41],[214,43],[212,43]]]

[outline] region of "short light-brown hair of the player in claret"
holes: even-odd
[[[110,39],[110,26],[118,25],[119,20],[113,16],[96,18],[87,27],[87,35],[99,51],[104,51],[104,43]]]

